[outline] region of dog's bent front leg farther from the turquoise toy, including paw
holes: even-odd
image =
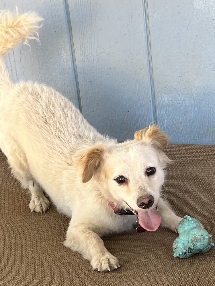
[[[103,240],[92,229],[89,225],[73,224],[71,220],[64,245],[80,252],[98,271],[111,271],[120,267],[117,258],[107,251]]]

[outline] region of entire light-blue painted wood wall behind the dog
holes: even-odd
[[[172,143],[215,144],[214,0],[0,0],[44,19],[41,45],[6,57],[12,78],[69,98],[119,141],[157,122]]]

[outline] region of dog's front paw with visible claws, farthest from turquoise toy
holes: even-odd
[[[109,252],[93,257],[91,265],[93,269],[103,272],[115,270],[120,267],[117,258]]]

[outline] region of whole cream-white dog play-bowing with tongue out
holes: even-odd
[[[93,269],[117,269],[118,259],[100,236],[130,231],[137,218],[138,231],[155,231],[160,224],[177,231],[181,221],[160,194],[170,160],[159,147],[168,138],[153,125],[119,144],[99,134],[52,88],[12,83],[2,57],[20,41],[35,39],[40,21],[36,13],[1,11],[0,147],[13,175],[30,190],[31,211],[49,208],[44,190],[71,217],[64,244]]]

